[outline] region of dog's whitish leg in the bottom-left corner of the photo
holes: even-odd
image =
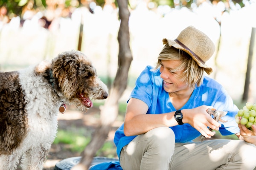
[[[0,170],[16,170],[21,153],[14,151],[12,155],[0,156]]]

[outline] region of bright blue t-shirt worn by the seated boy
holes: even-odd
[[[163,79],[160,78],[159,69],[151,71],[152,67],[147,66],[136,81],[134,90],[130,98],[140,99],[148,105],[147,114],[161,114],[176,111],[169,99],[169,93],[163,89]],[[214,79],[204,77],[203,83],[196,87],[190,99],[180,109],[191,109],[201,105],[212,106],[220,111],[227,111],[227,115],[221,119],[227,120],[221,123],[219,129],[222,135],[231,135],[239,132],[236,120],[234,119],[238,108],[233,104],[233,100],[227,91]],[[175,133],[175,142],[191,142],[201,135],[194,127],[183,124],[170,127]],[[116,130],[114,142],[116,144],[117,155],[120,155],[122,147],[127,145],[136,136],[125,136],[123,125]]]

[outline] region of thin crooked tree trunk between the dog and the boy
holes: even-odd
[[[127,87],[128,72],[132,61],[130,49],[130,33],[128,21],[130,12],[128,0],[117,0],[119,6],[120,28],[118,32],[119,54],[116,77],[111,88],[110,95],[105,105],[100,108],[100,125],[92,135],[92,139],[84,149],[81,161],[72,170],[88,170],[93,157],[96,155],[108,137],[111,125],[118,115],[118,101]]]

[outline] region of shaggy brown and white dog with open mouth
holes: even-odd
[[[67,51],[35,67],[0,72],[0,170],[41,170],[55,135],[64,102],[80,111],[90,99],[106,99],[107,86],[89,59]]]

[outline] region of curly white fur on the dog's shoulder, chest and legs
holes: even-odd
[[[38,158],[46,156],[41,148],[49,150],[55,139],[58,128],[58,107],[61,102],[57,102],[56,105],[56,101],[50,97],[52,96],[51,85],[44,82],[41,77],[35,77],[34,67],[20,71],[19,77],[26,95],[28,133],[19,149],[15,150],[12,156],[0,156],[0,167],[3,167],[3,170],[15,170],[15,164],[25,153],[22,160],[23,169],[41,170],[43,162]],[[40,98],[38,98],[39,96]],[[15,164],[9,164],[6,160],[15,162]]]

